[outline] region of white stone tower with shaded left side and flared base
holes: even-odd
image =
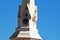
[[[38,34],[35,0],[22,0],[18,11],[18,27],[10,40],[42,40]]]

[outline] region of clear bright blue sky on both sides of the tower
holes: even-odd
[[[9,40],[17,27],[21,0],[0,0],[0,40]],[[43,40],[60,40],[60,0],[36,0],[37,28]]]

